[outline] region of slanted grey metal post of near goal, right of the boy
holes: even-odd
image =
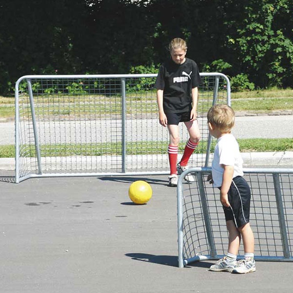
[[[279,174],[273,173],[272,178],[273,178],[273,186],[274,186],[274,190],[275,190],[275,197],[276,197],[276,203],[277,203],[277,209],[278,209],[278,216],[279,216],[284,257],[290,258],[291,254],[290,254],[290,248],[289,248],[289,243],[288,243],[288,236],[287,236],[286,221],[285,221],[285,216],[284,216],[284,207],[283,207],[283,201],[282,201],[282,193],[281,193],[281,187],[280,187]]]

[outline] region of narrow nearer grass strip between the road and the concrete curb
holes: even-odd
[[[214,150],[215,141],[211,146]],[[293,151],[293,138],[282,139],[239,139],[241,152],[268,152],[268,151]],[[165,142],[138,142],[126,145],[126,155],[151,155],[165,154],[167,143]],[[179,150],[184,150],[185,144],[179,146]],[[207,142],[202,141],[195,153],[201,153],[207,148]],[[36,152],[33,145],[22,146],[21,151],[25,151],[26,157],[35,157]],[[113,144],[88,144],[88,145],[44,145],[41,146],[42,157],[56,156],[103,156],[122,155],[121,143]],[[0,146],[0,158],[14,158],[15,146]]]

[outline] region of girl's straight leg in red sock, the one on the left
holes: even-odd
[[[177,156],[179,145],[179,126],[167,125],[170,137],[170,143],[168,145],[168,158],[170,164],[170,175],[177,174]]]

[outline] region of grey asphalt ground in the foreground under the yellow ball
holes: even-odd
[[[1,293],[292,292],[293,263],[247,275],[177,267],[176,189],[166,176],[29,179],[0,171]],[[153,196],[128,198],[135,180]]]

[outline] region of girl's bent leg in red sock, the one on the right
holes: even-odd
[[[199,127],[198,127],[197,122],[196,121],[188,121],[188,122],[184,122],[184,124],[187,127],[187,130],[189,133],[189,139],[188,139],[188,142],[185,146],[182,159],[180,161],[180,166],[182,166],[182,167],[187,166],[188,160],[200,140],[200,132],[199,132]]]

